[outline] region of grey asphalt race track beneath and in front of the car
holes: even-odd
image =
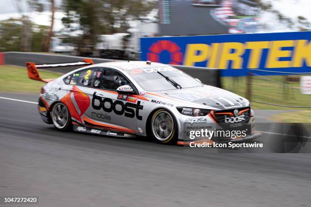
[[[27,206],[310,206],[311,154],[217,154],[58,132],[34,103],[8,99],[0,131],[0,196],[39,197]]]

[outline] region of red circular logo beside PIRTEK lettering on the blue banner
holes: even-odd
[[[147,60],[160,62],[160,56],[163,55],[163,51],[167,51],[170,55],[168,64],[180,65],[182,64],[182,52],[180,50],[176,43],[169,40],[160,40],[148,48]]]

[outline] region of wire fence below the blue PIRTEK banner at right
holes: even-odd
[[[290,108],[311,109],[311,95],[301,94],[300,78],[305,75],[223,77],[223,88],[252,102]]]

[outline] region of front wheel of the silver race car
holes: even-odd
[[[151,118],[150,132],[157,143],[176,144],[178,128],[175,117],[166,109],[159,109]]]

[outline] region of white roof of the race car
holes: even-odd
[[[147,64],[146,61],[113,61],[113,62],[103,62],[94,64],[92,66],[100,66],[100,67],[118,67],[121,70],[132,70],[138,68],[152,68],[152,67],[170,67],[169,65],[158,63],[158,62],[151,62]]]

